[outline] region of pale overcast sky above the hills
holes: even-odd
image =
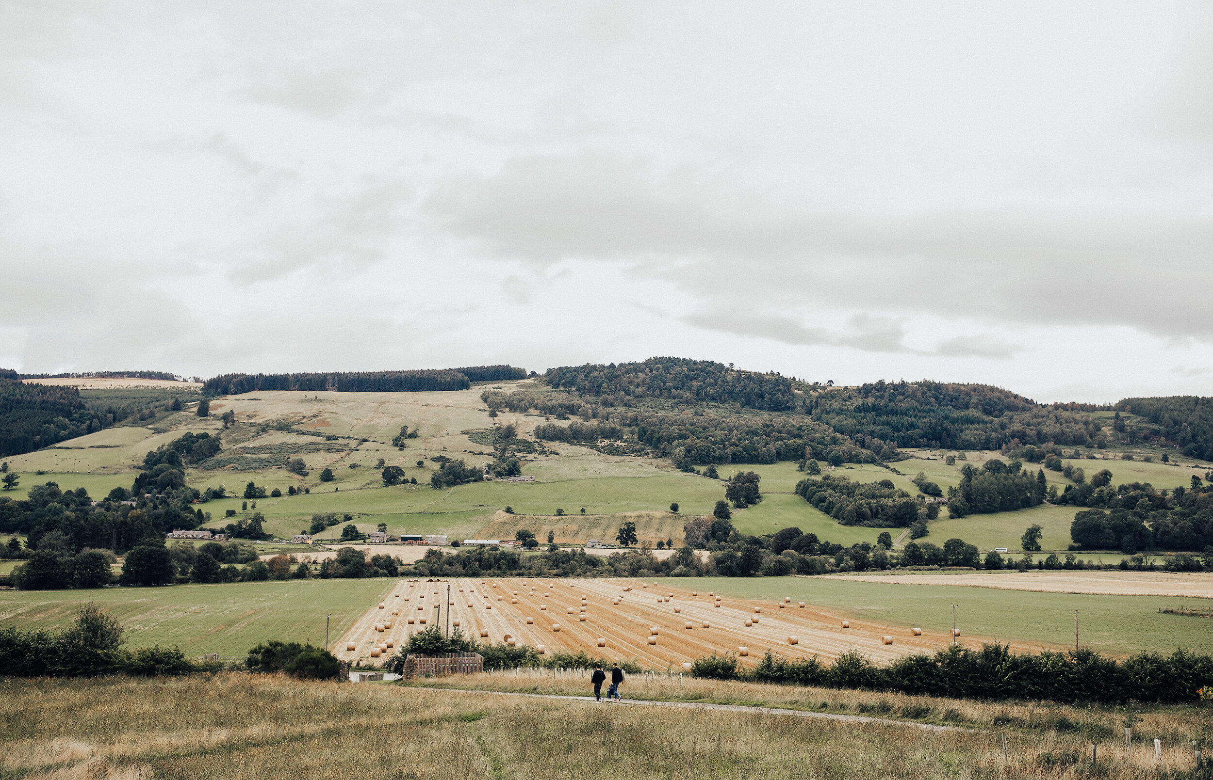
[[[0,366],[1213,380],[1207,2],[0,2]]]

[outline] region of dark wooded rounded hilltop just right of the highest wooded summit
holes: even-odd
[[[1027,445],[1094,446],[1100,424],[1088,414],[1047,407],[990,385],[940,382],[833,388],[808,403],[814,419],[866,445],[1000,449]]]

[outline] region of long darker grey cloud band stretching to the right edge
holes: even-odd
[[[648,273],[713,302],[751,286],[780,303],[1132,325],[1213,340],[1213,308],[1200,292],[1213,282],[1213,219],[1198,213],[797,212],[588,154],[514,159],[496,176],[452,183],[427,207],[502,257],[644,259]]]

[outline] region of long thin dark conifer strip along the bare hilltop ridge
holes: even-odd
[[[364,371],[296,374],[223,374],[203,383],[207,395],[239,395],[261,390],[303,390],[319,392],[421,392],[467,390],[473,382],[520,379],[526,375],[513,366],[469,366],[415,371]]]

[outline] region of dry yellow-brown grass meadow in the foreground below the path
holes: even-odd
[[[879,695],[821,698],[835,693]],[[924,734],[275,676],[4,681],[0,696],[2,778],[1127,780],[1175,776],[1192,765],[1190,750],[1168,746],[1157,764],[1152,746],[1127,751],[1115,740],[1101,741],[1099,764],[1092,765],[1081,735],[1055,730],[1008,730],[1004,768],[997,732]],[[1172,728],[1195,716],[1175,715]]]

